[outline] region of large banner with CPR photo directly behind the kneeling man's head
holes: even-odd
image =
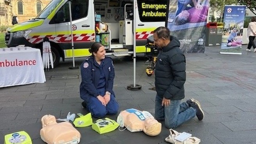
[[[169,0],[165,27],[184,53],[204,53],[209,0]]]

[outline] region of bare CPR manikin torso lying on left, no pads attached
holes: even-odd
[[[78,144],[81,134],[69,122],[57,123],[52,115],[45,115],[41,118],[42,129],[41,139],[47,144],[67,143]]]

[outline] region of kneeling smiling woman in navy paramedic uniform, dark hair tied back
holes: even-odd
[[[92,44],[89,52],[92,56],[81,64],[80,97],[84,100],[82,105],[94,117],[114,115],[119,105],[113,91],[115,77],[113,61],[110,57],[105,57],[106,51],[101,43]]]

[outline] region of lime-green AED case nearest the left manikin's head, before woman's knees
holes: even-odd
[[[87,115],[82,115],[81,113],[77,114],[78,118],[75,119],[75,121],[73,122],[73,124],[75,125],[75,127],[86,127],[86,126],[91,126],[92,125],[92,114],[91,112],[88,113]]]

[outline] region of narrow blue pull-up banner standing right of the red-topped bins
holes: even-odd
[[[244,5],[226,5],[224,7],[221,54],[242,55],[245,8]]]

